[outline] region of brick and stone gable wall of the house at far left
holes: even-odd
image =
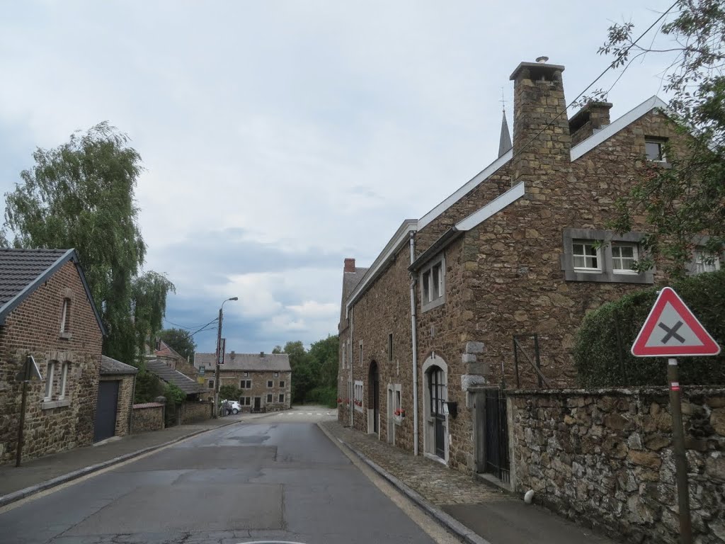
[[[70,321],[61,334],[64,299]],[[67,262],[15,308],[0,328],[0,463],[14,460],[22,384],[15,375],[33,355],[43,379],[30,382],[22,458],[91,445],[101,365],[101,330],[75,264]],[[48,365],[54,365],[45,400]],[[65,395],[62,368],[67,364]]]

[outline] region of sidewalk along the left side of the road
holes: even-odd
[[[240,421],[239,416],[227,416],[199,423],[178,425],[160,431],[130,434],[99,445],[75,448],[50,456],[0,466],[0,506],[54,487],[70,479],[120,463],[147,451],[178,442],[194,434]]]

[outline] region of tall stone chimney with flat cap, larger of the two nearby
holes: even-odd
[[[561,73],[564,67],[521,62],[513,80],[513,168],[511,186],[544,188],[556,171],[570,168],[571,136]]]

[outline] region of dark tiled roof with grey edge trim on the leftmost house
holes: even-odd
[[[21,250],[14,247],[0,248],[0,325],[8,314],[17,308],[28,295],[40,287],[58,269],[72,260],[86,289],[86,296],[96,315],[101,332],[106,334],[98,308],[88,287],[83,268],[80,268],[75,250]]]

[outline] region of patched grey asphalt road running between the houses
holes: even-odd
[[[430,522],[425,516],[363,474],[328,440],[313,420],[332,417],[334,411],[307,412],[302,408],[243,417],[240,424],[36,495],[0,514],[0,540],[7,544],[453,541],[440,529],[436,533],[435,527],[426,528]]]

